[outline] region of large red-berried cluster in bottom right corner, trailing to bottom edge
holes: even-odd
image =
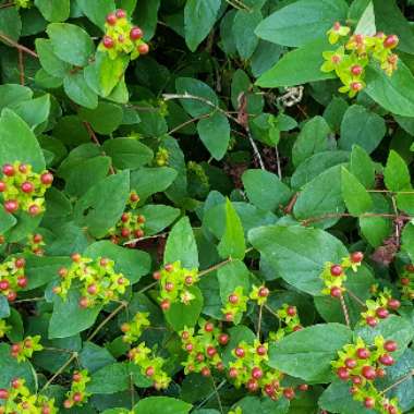
[[[389,401],[374,385],[376,378],[386,376],[385,367],[394,364],[390,353],[397,350],[397,342],[376,337],[374,344],[367,346],[358,338],[355,344],[348,344],[338,352],[339,358],[332,362],[338,377],[352,381],[350,389],[354,400],[363,402],[366,409],[375,409],[382,414],[398,414],[395,401]]]

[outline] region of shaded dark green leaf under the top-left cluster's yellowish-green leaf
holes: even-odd
[[[89,122],[98,134],[108,135],[121,124],[123,111],[118,105],[99,102],[96,109],[81,108],[80,117]]]

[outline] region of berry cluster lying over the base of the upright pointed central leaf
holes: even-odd
[[[181,261],[167,264],[153,275],[155,280],[159,280],[158,301],[162,310],[168,310],[172,303],[180,301],[187,305],[194,295],[188,288],[198,282],[197,269],[185,269],[181,267]]]

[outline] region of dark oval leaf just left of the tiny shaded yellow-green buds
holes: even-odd
[[[154,157],[150,148],[133,138],[108,139],[102,148],[112,158],[113,167],[120,170],[143,167]]]

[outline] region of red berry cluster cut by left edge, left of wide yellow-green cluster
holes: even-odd
[[[9,302],[15,301],[17,292],[27,285],[25,266],[26,260],[23,257],[12,258],[0,265],[0,294]]]

